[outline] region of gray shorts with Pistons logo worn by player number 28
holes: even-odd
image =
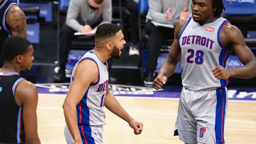
[[[212,135],[215,143],[225,143],[224,123],[227,88],[192,91],[183,87],[174,136],[186,143],[205,143]]]

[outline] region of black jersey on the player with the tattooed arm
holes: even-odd
[[[0,3],[0,53],[2,53],[5,40],[11,36],[10,28],[6,25],[6,13],[13,5],[17,4],[12,0],[3,0]]]

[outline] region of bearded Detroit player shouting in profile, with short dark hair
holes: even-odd
[[[134,120],[109,91],[107,59],[120,58],[126,43],[120,28],[115,24],[97,27],[95,48],[75,65],[70,90],[63,104],[67,125],[65,138],[68,144],[102,144],[105,122],[104,106],[134,129],[142,132],[143,124]]]

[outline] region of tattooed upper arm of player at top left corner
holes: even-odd
[[[26,17],[22,9],[13,5],[6,13],[6,24],[10,27],[11,35],[27,38]]]

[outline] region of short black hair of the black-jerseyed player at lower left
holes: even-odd
[[[16,56],[26,54],[29,51],[31,42],[20,36],[11,36],[6,39],[3,45],[5,61],[12,61]]]

